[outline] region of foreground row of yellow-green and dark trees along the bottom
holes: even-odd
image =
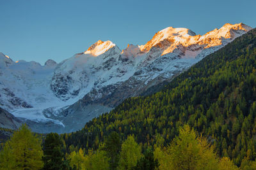
[[[120,136],[112,132],[98,150],[84,154],[82,148],[70,154],[62,152],[63,140],[56,133],[47,134],[44,143],[26,125],[15,131],[0,152],[0,169],[214,169],[238,170],[228,157],[218,157],[214,145],[206,138],[197,136],[189,127],[179,129],[168,146],[161,143],[142,147],[134,136],[122,143]],[[244,159],[240,169],[256,169],[256,161]]]

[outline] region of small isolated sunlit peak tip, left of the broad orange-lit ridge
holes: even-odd
[[[98,55],[101,55],[102,53],[105,53],[106,51],[108,51],[110,48],[113,48],[114,46],[115,44],[109,40],[108,41],[99,40],[96,43],[94,43],[92,46],[90,46],[88,50],[84,52],[84,54],[98,56]]]

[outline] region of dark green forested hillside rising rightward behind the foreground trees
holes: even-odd
[[[109,134],[134,135],[143,148],[166,146],[184,124],[240,165],[256,158],[256,29],[177,76],[163,90],[126,99],[81,131],[63,134],[67,152],[94,150]]]

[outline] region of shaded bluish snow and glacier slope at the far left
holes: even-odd
[[[44,66],[31,61],[12,59],[0,53],[0,106],[16,117],[34,121],[49,121],[42,110],[67,105],[50,89],[56,62],[47,60]],[[70,103],[71,104],[71,103]],[[58,120],[52,120],[61,124]]]

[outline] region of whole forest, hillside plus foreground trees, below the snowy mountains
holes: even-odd
[[[126,99],[70,134],[26,125],[0,169],[256,169],[256,29],[162,90]]]

